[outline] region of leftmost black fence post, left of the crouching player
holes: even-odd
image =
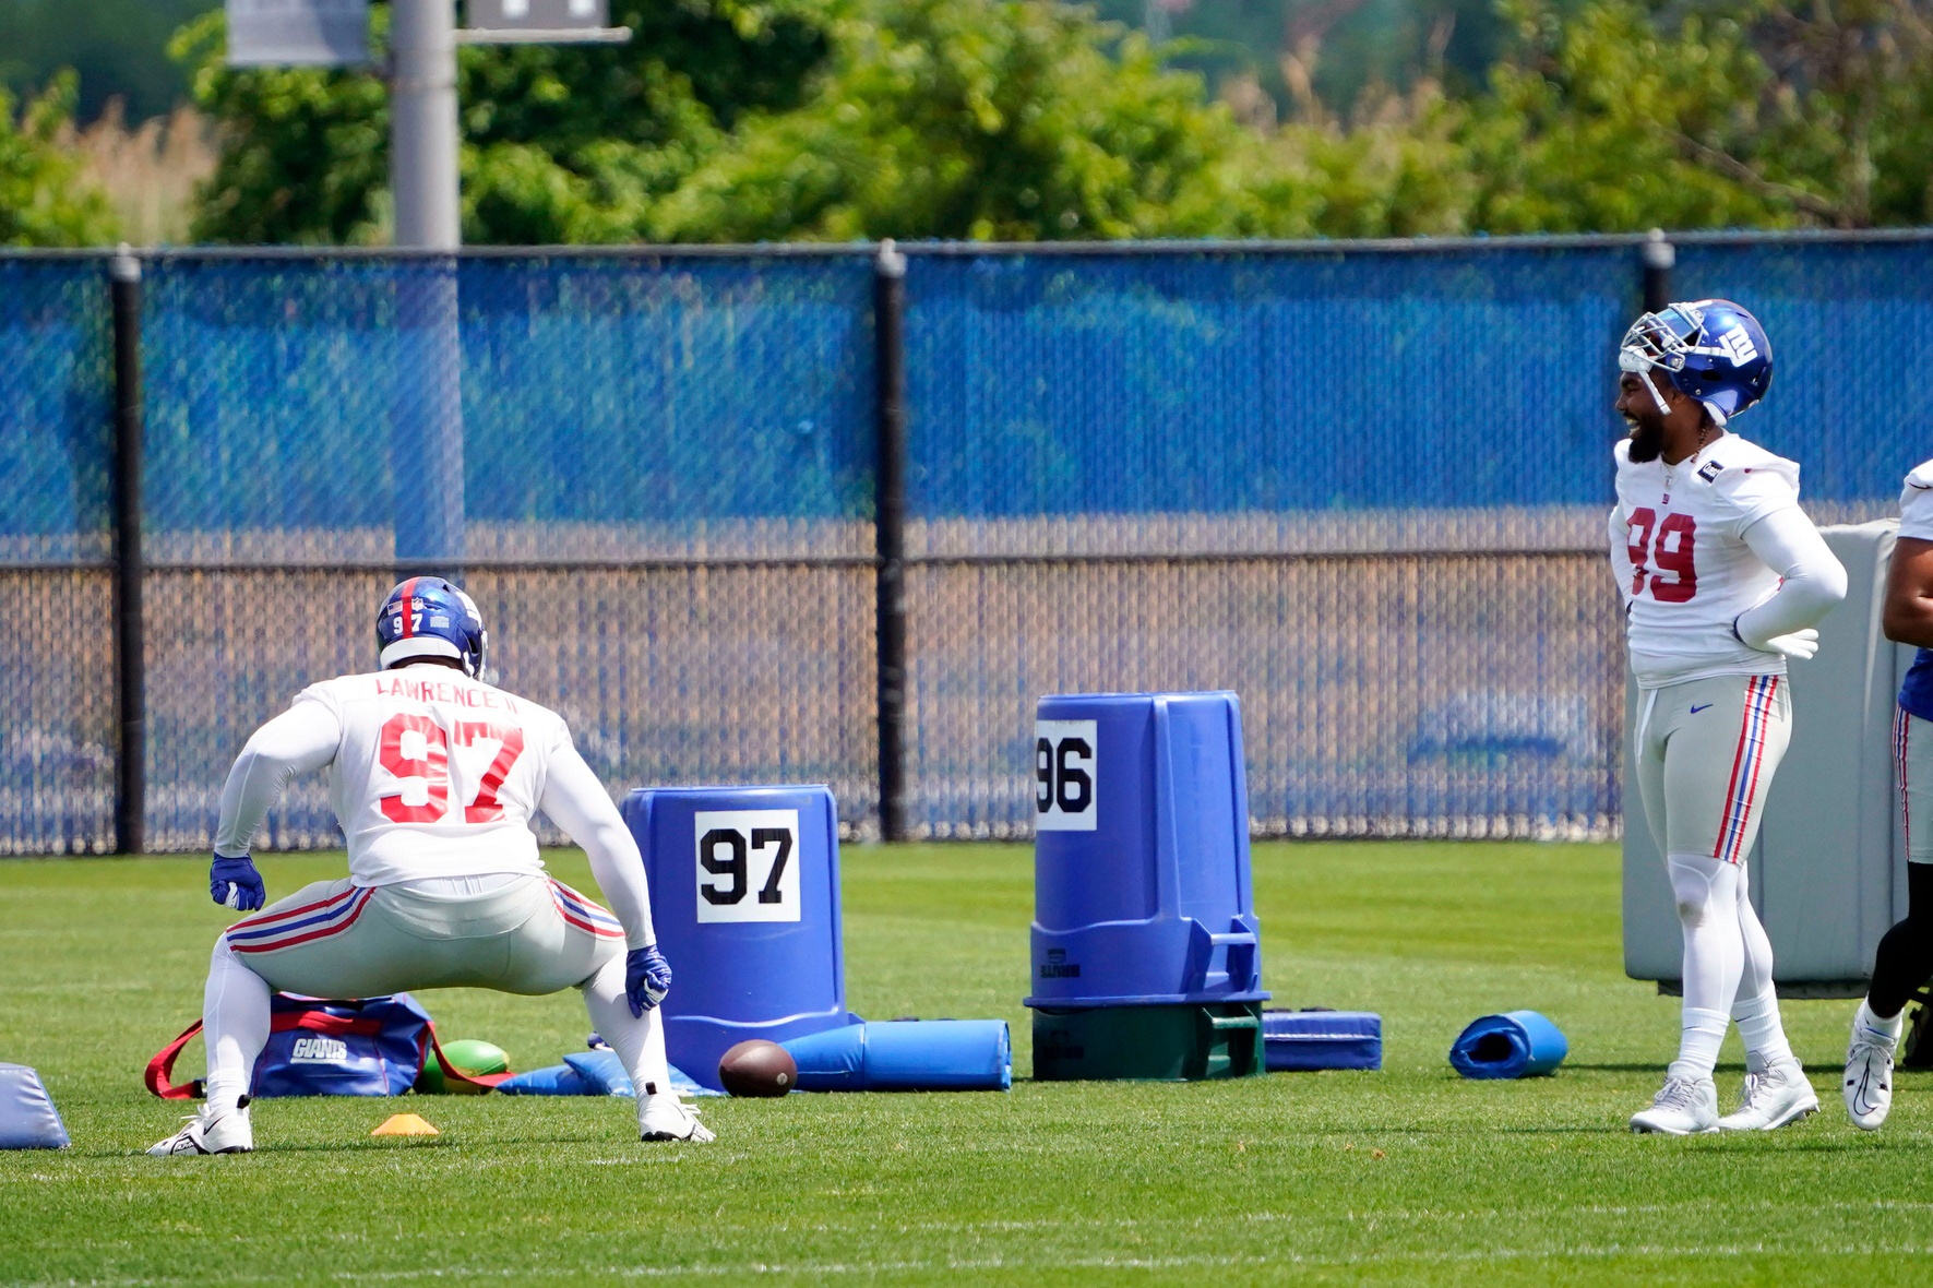
[[[114,298],[114,853],[147,841],[147,658],[141,632],[141,261],[108,261]]]

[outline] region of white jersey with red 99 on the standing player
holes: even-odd
[[[1732,623],[1778,590],[1778,572],[1742,534],[1798,507],[1798,464],[1734,433],[1676,466],[1631,464],[1630,441],[1618,443],[1614,456],[1616,518],[1631,563],[1622,588],[1626,638],[1637,683],[1657,688],[1711,675],[1784,675],[1784,656],[1742,644]]]

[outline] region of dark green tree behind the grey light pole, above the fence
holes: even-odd
[[[628,44],[458,52],[464,238],[617,242],[748,110],[798,102],[825,35],[806,0],[619,0]],[[373,46],[387,48],[387,10]],[[224,130],[195,236],[209,242],[377,242],[389,220],[389,95],[365,68],[222,62],[209,14],[174,41],[195,104]]]

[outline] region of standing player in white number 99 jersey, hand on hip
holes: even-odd
[[[1645,313],[1618,348],[1618,505],[1610,563],[1639,687],[1631,762],[1684,930],[1684,1027],[1633,1131],[1773,1129],[1819,1108],[1786,1042],[1773,948],[1745,855],[1790,735],[1786,658],[1846,598],[1846,571],[1800,509],[1800,468],[1728,433],[1763,395],[1773,348],[1728,300]],[[1745,1093],[1718,1116],[1726,1021],[1745,1039]]]

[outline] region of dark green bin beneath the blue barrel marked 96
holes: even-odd
[[[1262,1004],[1034,1008],[1034,1081],[1189,1083],[1262,1073]]]

